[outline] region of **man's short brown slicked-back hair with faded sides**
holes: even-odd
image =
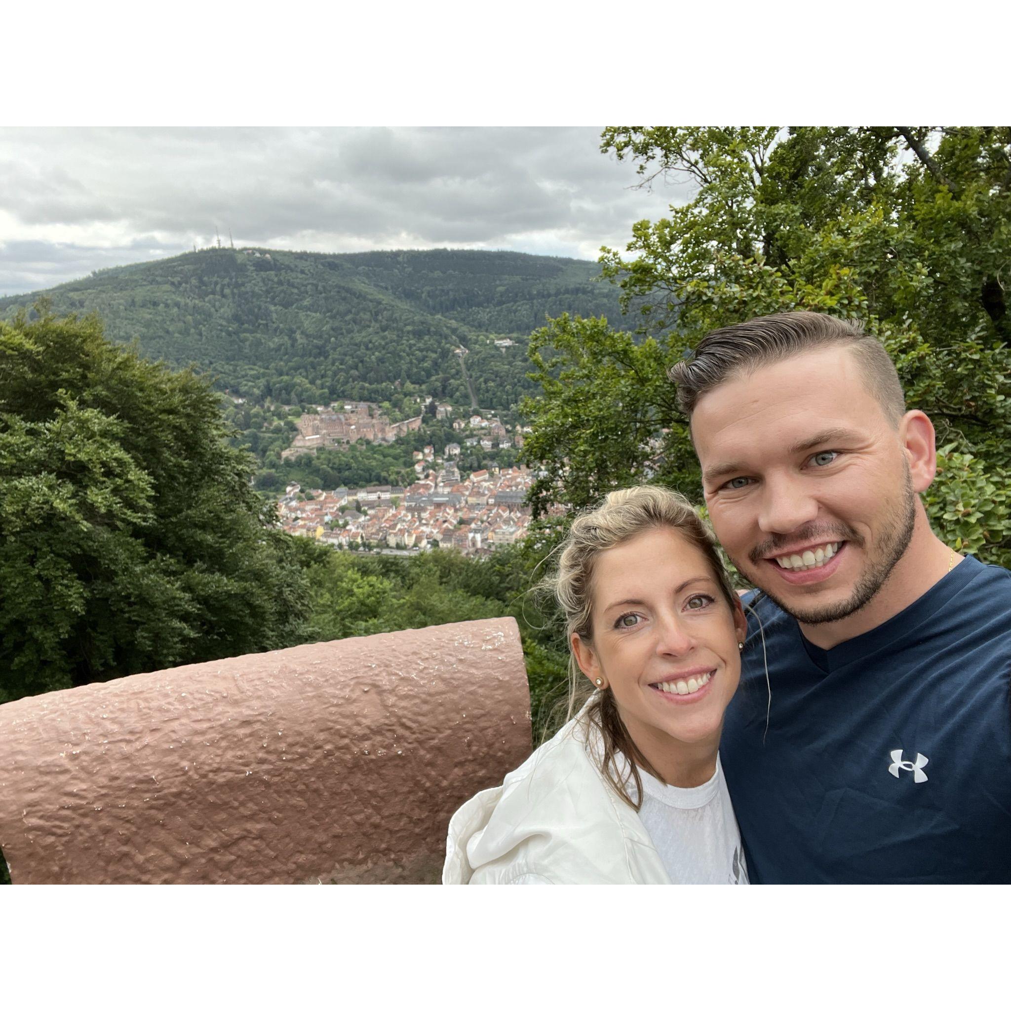
[[[807,351],[838,345],[849,348],[893,427],[906,412],[899,374],[881,342],[864,334],[858,324],[821,312],[778,312],[707,334],[695,355],[668,372],[677,384],[677,405],[688,421],[699,398],[728,379]]]

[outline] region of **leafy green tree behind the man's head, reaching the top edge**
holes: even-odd
[[[714,328],[813,309],[877,335],[937,427],[925,501],[941,535],[1011,563],[1011,512],[987,490],[1009,469],[1011,128],[620,126],[602,150],[635,161],[644,185],[687,178],[695,196],[638,222],[624,255],[604,251],[635,340],[564,316],[534,335],[535,509],[651,478],[698,497],[658,376]]]

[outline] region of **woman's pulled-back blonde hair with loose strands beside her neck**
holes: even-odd
[[[571,720],[582,710],[583,718],[598,727],[604,745],[601,771],[619,796],[636,810],[642,798],[642,780],[637,766],[661,782],[664,782],[663,776],[636,747],[618,712],[611,686],[594,692],[579,669],[571,637],[574,633],[583,642],[592,642],[593,570],[601,552],[624,544],[643,531],[657,528],[676,530],[703,553],[733,612],[738,607],[738,599],[717,551],[716,538],[687,498],[656,484],[612,491],[600,505],[576,517],[561,545],[557,569],[542,584],[552,592],[565,619],[565,640],[569,645],[565,719]],[[619,754],[625,755],[627,763],[619,763]],[[621,764],[627,767],[622,769]],[[634,797],[629,790],[631,780],[635,782]]]

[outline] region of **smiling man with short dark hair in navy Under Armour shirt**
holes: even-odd
[[[1011,882],[1011,573],[931,531],[933,426],[881,344],[763,316],[671,378],[759,590],[720,752],[751,881]]]

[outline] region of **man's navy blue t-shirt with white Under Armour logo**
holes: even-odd
[[[1011,572],[967,557],[829,650],[755,611],[768,729],[749,615],[720,744],[752,883],[1011,883]]]

